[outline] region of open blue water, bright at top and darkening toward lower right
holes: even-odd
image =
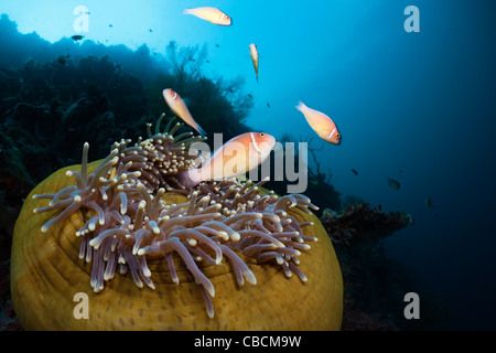
[[[233,18],[231,26],[182,14],[205,1],[3,0],[0,12],[21,33],[52,43],[83,34],[131,50],[145,43],[158,57],[171,40],[206,43],[206,76],[245,79],[254,130],[313,137],[320,148],[324,142],[294,106],[303,100],[327,114],[343,140],[316,153],[335,189],[416,220],[385,240],[388,256],[419,278],[411,291],[441,298],[449,329],[496,329],[495,2],[211,2]],[[79,4],[89,10],[84,33],[73,26]],[[408,6],[420,10],[420,32],[405,30]],[[250,43],[260,54],[259,84]],[[388,178],[401,188],[389,188]]]

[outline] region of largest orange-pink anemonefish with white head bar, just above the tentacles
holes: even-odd
[[[274,146],[276,139],[268,133],[241,133],[224,143],[202,168],[180,172],[177,180],[187,189],[192,189],[202,181],[245,174],[263,163]]]

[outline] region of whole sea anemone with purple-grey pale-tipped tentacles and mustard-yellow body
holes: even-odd
[[[342,314],[341,271],[328,238],[322,239],[312,235],[315,233],[315,223],[319,221],[309,208],[316,207],[304,195],[293,194],[280,197],[272,192],[265,193],[261,185],[266,181],[254,184],[251,181],[241,183],[230,179],[204,182],[194,190],[186,190],[175,175],[183,170],[197,168],[197,154],[191,153],[190,150],[194,142],[203,141],[204,138],[193,137],[191,132],[174,137],[182,124],[172,126],[173,120],[170,120],[165,130],[160,132],[162,118],[163,115],[155,126],[154,135],[151,133],[151,126],[148,125],[147,140],[140,140],[132,147],[129,146],[129,140],[116,142],[109,156],[95,163],[88,163],[89,146],[85,143],[80,167],[61,170],[55,173],[57,179],[50,176],[30,194],[33,201],[28,200],[24,204],[17,222],[12,247],[12,293],[14,308],[21,312],[18,312],[21,322],[28,329],[119,328],[115,322],[109,324],[108,321],[111,319],[108,317],[105,320],[101,319],[104,310],[96,314],[100,315],[98,319],[101,320],[93,317],[91,321],[96,323],[89,327],[87,322],[80,325],[75,324],[75,320],[67,318],[67,313],[63,314],[65,319],[54,317],[46,320],[41,319],[40,314],[24,312],[24,308],[30,306],[30,300],[36,301],[36,310],[43,311],[44,314],[50,315],[50,310],[54,312],[53,306],[50,307],[43,302],[47,297],[53,296],[54,289],[40,288],[43,287],[40,284],[32,285],[32,279],[44,276],[43,280],[55,287],[53,284],[55,279],[47,275],[47,267],[57,267],[54,263],[65,261],[66,257],[74,261],[71,254],[74,253],[72,248],[76,239],[80,243],[77,257],[83,263],[78,265],[78,272],[82,268],[85,272],[76,278],[84,278],[86,271],[90,272],[89,285],[95,292],[91,301],[98,301],[100,306],[107,303],[106,311],[109,311],[108,301],[111,300],[104,295],[107,291],[104,289],[106,282],[111,286],[112,279],[122,280],[128,278],[126,274],[130,272],[133,284],[140,288],[143,284],[155,290],[164,282],[168,286],[183,282],[196,284],[195,287],[200,289],[204,298],[209,320],[214,320],[212,298],[216,293],[217,284],[214,282],[219,274],[223,276],[234,274],[237,291],[245,291],[246,286],[241,288],[245,280],[250,285],[257,285],[260,272],[263,281],[267,280],[265,276],[268,274],[271,274],[271,277],[278,276],[271,272],[274,268],[282,269],[285,277],[295,274],[301,282],[305,282],[308,278],[300,269],[302,255],[311,253],[313,244],[324,242],[325,249],[331,254],[324,254],[323,268],[330,269],[332,274],[327,274],[327,279],[315,278],[314,280],[330,284],[327,287],[336,287],[332,289],[332,292],[320,295],[334,295],[332,303],[328,299],[324,300],[326,304],[333,307],[330,308],[332,314],[328,314],[330,310],[326,309],[325,317],[322,320],[310,320],[314,324],[306,329],[338,329]],[[65,175],[64,181],[60,180],[62,174]],[[57,182],[54,182],[55,180]],[[47,189],[51,191],[47,192]],[[50,200],[48,204],[37,206],[43,200]],[[36,207],[33,202],[36,203]],[[34,212],[35,215],[29,216],[29,211]],[[42,215],[45,216],[42,217]],[[309,218],[313,216],[313,218],[312,221],[302,220],[302,215]],[[54,239],[46,242],[47,249],[41,249],[34,245],[39,242],[26,239],[31,233],[31,228],[26,229],[26,227],[34,222],[28,220],[31,217],[39,217],[35,221],[37,226],[43,222],[40,228],[41,235],[40,232],[35,232],[36,237],[50,234],[46,238]],[[319,226],[322,228],[320,223]],[[319,242],[316,242],[317,238]],[[57,255],[51,253],[56,246],[62,248],[63,254],[58,249],[56,249]],[[25,260],[26,257],[35,257],[35,259],[30,259],[30,260]],[[269,271],[268,268],[270,268]],[[165,272],[166,280],[161,276]],[[73,282],[73,279],[65,278],[72,276],[71,271],[60,275],[65,281]],[[226,279],[223,280],[226,281]],[[277,282],[279,280],[273,281],[273,284]],[[259,286],[260,284],[252,287]],[[80,285],[77,287],[82,288]],[[61,287],[63,292],[62,288],[74,291],[67,284]],[[119,288],[122,287],[118,282],[111,290],[119,291]],[[172,308],[177,306],[171,298],[169,301],[163,299],[161,289],[159,289],[159,297],[162,302],[169,302]],[[32,290],[40,290],[34,297],[43,298],[35,299],[32,292],[26,292]],[[126,292],[131,296],[131,289],[128,287]],[[64,295],[72,299],[69,293]],[[121,292],[119,296],[122,298]],[[138,296],[143,297],[141,291]],[[191,287],[188,296],[195,298],[192,301],[197,302],[195,295],[191,292]],[[183,304],[191,307],[187,300],[185,301],[186,297],[182,295]],[[311,299],[311,302],[312,300],[314,299]],[[48,301],[53,301],[52,297]],[[149,308],[151,302],[147,301]],[[66,307],[68,306],[69,303],[66,303]],[[132,306],[131,300],[130,307]],[[43,307],[43,310],[40,310],[40,307]],[[161,304],[161,308],[165,310],[164,304]],[[131,317],[129,320],[132,325],[136,324],[136,329],[145,328],[144,324],[137,324],[142,313],[138,311],[136,319]],[[193,318],[197,315],[197,313],[192,314]],[[308,314],[304,317],[304,321],[309,320]],[[277,325],[263,327],[265,320],[260,321],[261,325],[257,325],[257,322],[250,324],[259,329],[299,328],[279,317],[278,319],[280,323]],[[195,329],[200,324],[194,320],[193,325],[182,324],[184,321],[190,322],[183,318],[174,320],[179,321],[179,324],[169,322],[168,329]],[[65,322],[65,327],[61,327],[61,322]],[[121,320],[119,323],[120,328],[123,328]],[[153,325],[150,328],[157,329]],[[212,325],[206,323],[205,328],[212,329]],[[226,327],[228,328],[235,327],[231,324]],[[247,329],[249,325],[236,328]]]

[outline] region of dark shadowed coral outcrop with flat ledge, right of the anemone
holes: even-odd
[[[399,263],[386,256],[381,240],[411,225],[412,217],[358,203],[339,212],[326,208],[321,221],[336,247],[343,271],[343,330],[408,329],[397,322],[406,321],[401,317],[402,296],[413,279]]]

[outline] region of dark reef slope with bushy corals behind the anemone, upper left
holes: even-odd
[[[145,45],[131,51],[71,39],[51,44],[19,33],[4,14],[0,32],[0,44],[9,47],[0,55],[0,174],[23,182],[9,199],[21,200],[51,171],[78,162],[74,146],[89,142],[95,160],[115,139],[137,140],[149,117],[166,107],[163,87],[187,97],[191,113],[200,124],[206,117],[212,131],[231,138],[247,130],[242,120],[252,100],[244,82],[206,77],[206,49],[171,42],[163,57]]]

